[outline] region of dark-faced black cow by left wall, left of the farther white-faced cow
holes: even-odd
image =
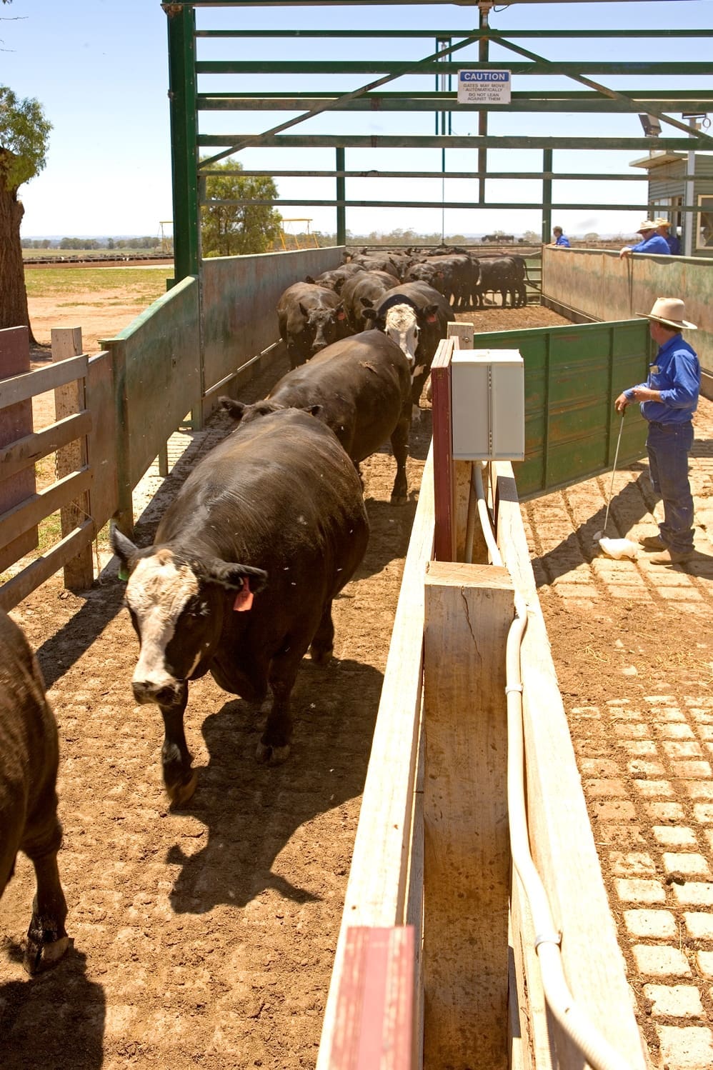
[[[349,333],[338,295],[314,282],[294,282],[285,290],[277,302],[277,322],[291,368]]]

